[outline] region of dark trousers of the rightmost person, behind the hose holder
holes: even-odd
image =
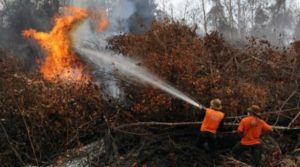
[[[241,159],[241,155],[243,152],[249,150],[252,155],[252,162],[255,165],[255,167],[261,166],[261,153],[262,153],[262,147],[260,144],[256,145],[242,145],[241,143],[236,144],[233,149],[232,153],[237,159]]]

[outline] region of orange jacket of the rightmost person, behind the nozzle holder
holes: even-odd
[[[243,133],[242,145],[260,144],[261,133],[270,131],[272,126],[254,116],[243,118],[238,127],[238,132]]]

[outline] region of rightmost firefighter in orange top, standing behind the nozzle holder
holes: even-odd
[[[240,155],[250,150],[253,155],[252,161],[256,167],[261,166],[261,141],[262,132],[273,131],[272,127],[260,119],[261,109],[257,105],[252,105],[248,110],[248,116],[243,118],[238,127],[238,133],[242,134],[241,141],[234,146],[233,155],[240,159]]]

